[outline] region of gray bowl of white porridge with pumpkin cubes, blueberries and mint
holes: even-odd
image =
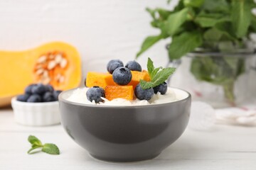
[[[191,95],[167,86],[174,68],[142,70],[110,60],[107,73],[88,72],[85,87],[59,96],[61,123],[96,159],[137,162],[157,157],[188,125]]]

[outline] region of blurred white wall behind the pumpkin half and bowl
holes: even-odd
[[[134,60],[142,40],[159,33],[149,25],[151,17],[145,11],[157,6],[172,5],[166,0],[1,0],[0,49],[26,50],[65,41],[80,52],[83,74],[105,72],[109,60]],[[147,57],[166,65],[166,42],[139,58],[144,68]]]

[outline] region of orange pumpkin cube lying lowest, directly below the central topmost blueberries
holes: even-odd
[[[105,96],[109,101],[112,101],[114,98],[133,100],[133,94],[132,86],[106,86],[105,88]]]

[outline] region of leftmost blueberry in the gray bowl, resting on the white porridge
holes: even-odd
[[[105,97],[105,91],[99,86],[93,86],[87,90],[86,97],[88,101],[95,101],[95,103],[99,103],[100,101],[103,101],[101,97]]]

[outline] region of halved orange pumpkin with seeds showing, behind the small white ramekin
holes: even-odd
[[[72,89],[80,85],[82,78],[80,55],[64,42],[50,42],[21,52],[0,51],[0,61],[0,98],[22,94],[32,83]]]

